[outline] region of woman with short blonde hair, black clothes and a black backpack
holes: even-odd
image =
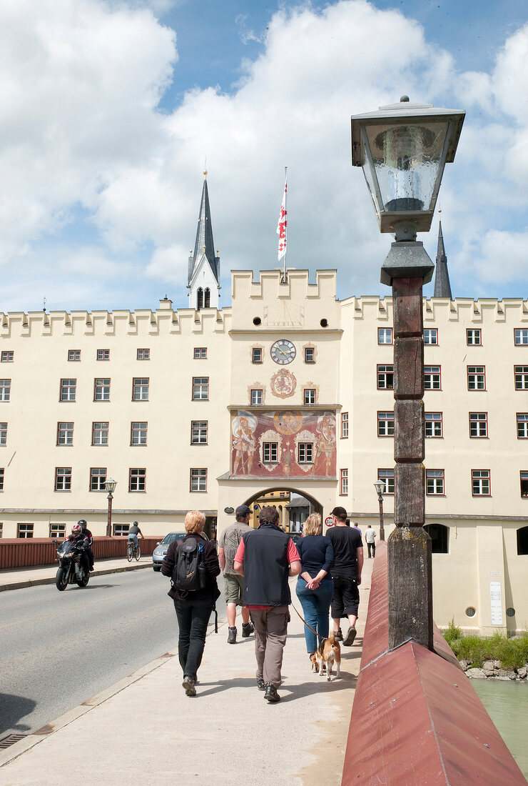
[[[169,597],[180,628],[178,656],[184,670],[182,685],[187,696],[196,696],[196,673],[206,645],[207,623],[220,595],[217,549],[203,537],[206,516],[190,510],[185,516],[183,541],[169,545],[162,562],[162,574],[171,577]]]

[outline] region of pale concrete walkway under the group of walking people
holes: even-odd
[[[253,636],[228,645],[225,620],[218,634],[209,626],[198,696],[189,698],[175,626],[173,652],[0,751],[0,784],[54,786],[64,777],[102,786],[340,784],[372,563],[365,560],[358,637],[341,648],[339,680],[311,672],[304,626],[292,608],[279,703],[257,690]],[[165,593],[163,602],[171,602]]]

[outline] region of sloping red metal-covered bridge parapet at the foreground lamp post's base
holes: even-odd
[[[387,545],[379,543],[343,786],[526,784],[436,626],[433,642],[435,652],[412,640],[388,651]]]

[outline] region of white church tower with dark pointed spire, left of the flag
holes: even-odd
[[[188,267],[189,306],[197,309],[217,308],[220,289],[220,257],[215,255],[214,251],[207,170],[204,171],[203,177],[195,251],[189,256]]]

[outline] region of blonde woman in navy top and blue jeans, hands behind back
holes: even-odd
[[[322,638],[328,636],[330,601],[333,581],[330,564],[333,560],[333,545],[330,538],[321,534],[322,522],[319,513],[312,513],[304,523],[303,537],[297,541],[300,554],[300,575],[297,579],[297,597],[303,607],[304,619],[319,636],[304,626],[304,638],[308,656],[314,654]]]

